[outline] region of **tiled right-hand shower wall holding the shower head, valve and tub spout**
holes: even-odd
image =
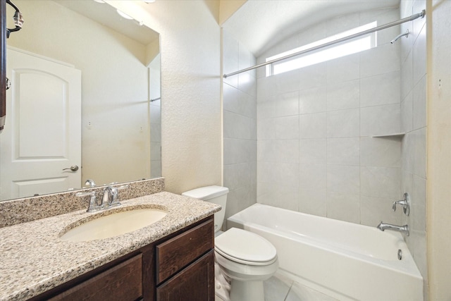
[[[401,1],[400,17],[426,9],[425,0]],[[403,216],[409,224],[407,245],[416,265],[428,283],[426,264],[426,18],[401,25],[401,32],[412,34],[401,43],[401,120],[402,192],[409,192],[411,214]],[[427,292],[426,288],[424,290]],[[427,300],[427,298],[425,298]]]

